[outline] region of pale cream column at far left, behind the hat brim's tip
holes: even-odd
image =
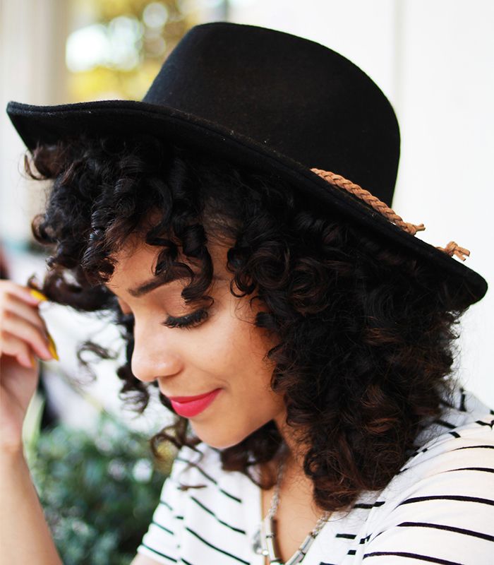
[[[64,0],[3,0],[0,4],[0,239],[23,244],[39,208],[39,183],[19,174],[24,145],[8,119],[9,100],[36,105],[66,102]],[[35,193],[30,198],[29,191]]]

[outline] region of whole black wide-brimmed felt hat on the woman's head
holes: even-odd
[[[366,73],[318,43],[253,25],[196,25],[167,57],[142,101],[9,102],[7,113],[29,150],[83,132],[145,132],[274,172],[322,209],[423,258],[460,304],[486,294],[486,280],[451,256],[454,246],[436,248],[414,237],[416,230],[405,230],[399,216],[381,213],[391,206],[396,181],[397,119]],[[356,185],[371,194],[349,194]]]

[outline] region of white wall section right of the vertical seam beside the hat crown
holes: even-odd
[[[399,118],[402,162],[395,205],[423,221],[423,239],[450,239],[488,283],[462,323],[459,366],[494,406],[494,3],[405,3]]]

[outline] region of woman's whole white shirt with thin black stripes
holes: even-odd
[[[385,489],[332,513],[303,565],[493,565],[493,424],[494,410],[459,388]],[[165,565],[264,565],[252,549],[259,487],[222,470],[217,450],[198,447],[202,458],[179,451],[138,552]]]

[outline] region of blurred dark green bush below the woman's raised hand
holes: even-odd
[[[147,437],[102,415],[95,434],[42,432],[32,478],[64,565],[128,565],[174,453],[153,463]]]

